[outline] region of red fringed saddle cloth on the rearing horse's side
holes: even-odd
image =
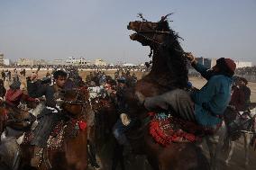
[[[152,120],[150,122],[151,137],[160,145],[167,147],[170,143],[196,142],[201,138],[195,133],[184,130],[186,123],[174,117],[158,118],[157,114],[150,112]],[[188,124],[188,126],[191,126]]]

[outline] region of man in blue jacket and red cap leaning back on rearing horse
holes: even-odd
[[[150,111],[159,108],[170,110],[181,119],[194,121],[203,127],[215,130],[222,122],[224,110],[230,101],[236,65],[230,58],[219,58],[215,67],[208,69],[199,64],[191,53],[187,53],[186,56],[191,61],[192,67],[206,78],[206,85],[192,94],[182,89],[175,89],[147,98],[138,93],[138,97]]]

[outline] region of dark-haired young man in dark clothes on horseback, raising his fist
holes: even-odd
[[[34,130],[34,138],[31,142],[31,144],[35,147],[31,160],[31,166],[39,165],[42,150],[47,146],[47,140],[50,137],[50,132],[55,123],[62,119],[61,114],[59,114],[61,103],[58,101],[60,101],[59,99],[62,99],[61,91],[64,89],[67,76],[68,75],[65,71],[58,70],[53,74],[53,78],[55,80],[54,85],[41,85],[41,83],[36,81],[36,74],[32,75],[31,80],[27,82],[28,91],[30,94],[37,97],[45,95],[46,98],[46,108],[39,115],[41,121]]]

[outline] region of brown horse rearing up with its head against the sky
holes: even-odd
[[[135,31],[130,36],[131,40],[150,46],[152,54],[151,72],[139,80],[135,89],[131,89],[131,93],[126,96],[132,118],[142,120],[147,115],[147,111],[134,97],[135,92],[154,96],[187,86],[187,61],[183,57],[184,51],[179,45],[178,35],[169,29],[167,17],[163,16],[160,22],[148,22],[142,18],[142,22],[129,22],[127,26],[128,30]],[[170,143],[164,148],[151,138],[148,129],[148,125],[145,125],[141,131],[128,134],[128,138],[132,145],[135,144],[133,147],[137,146],[137,152],[147,155],[154,170],[209,169],[206,157],[196,144]]]

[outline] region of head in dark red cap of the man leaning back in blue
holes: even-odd
[[[225,76],[233,76],[235,70],[235,63],[230,58],[219,58],[216,60],[216,65],[213,67],[215,73]]]

